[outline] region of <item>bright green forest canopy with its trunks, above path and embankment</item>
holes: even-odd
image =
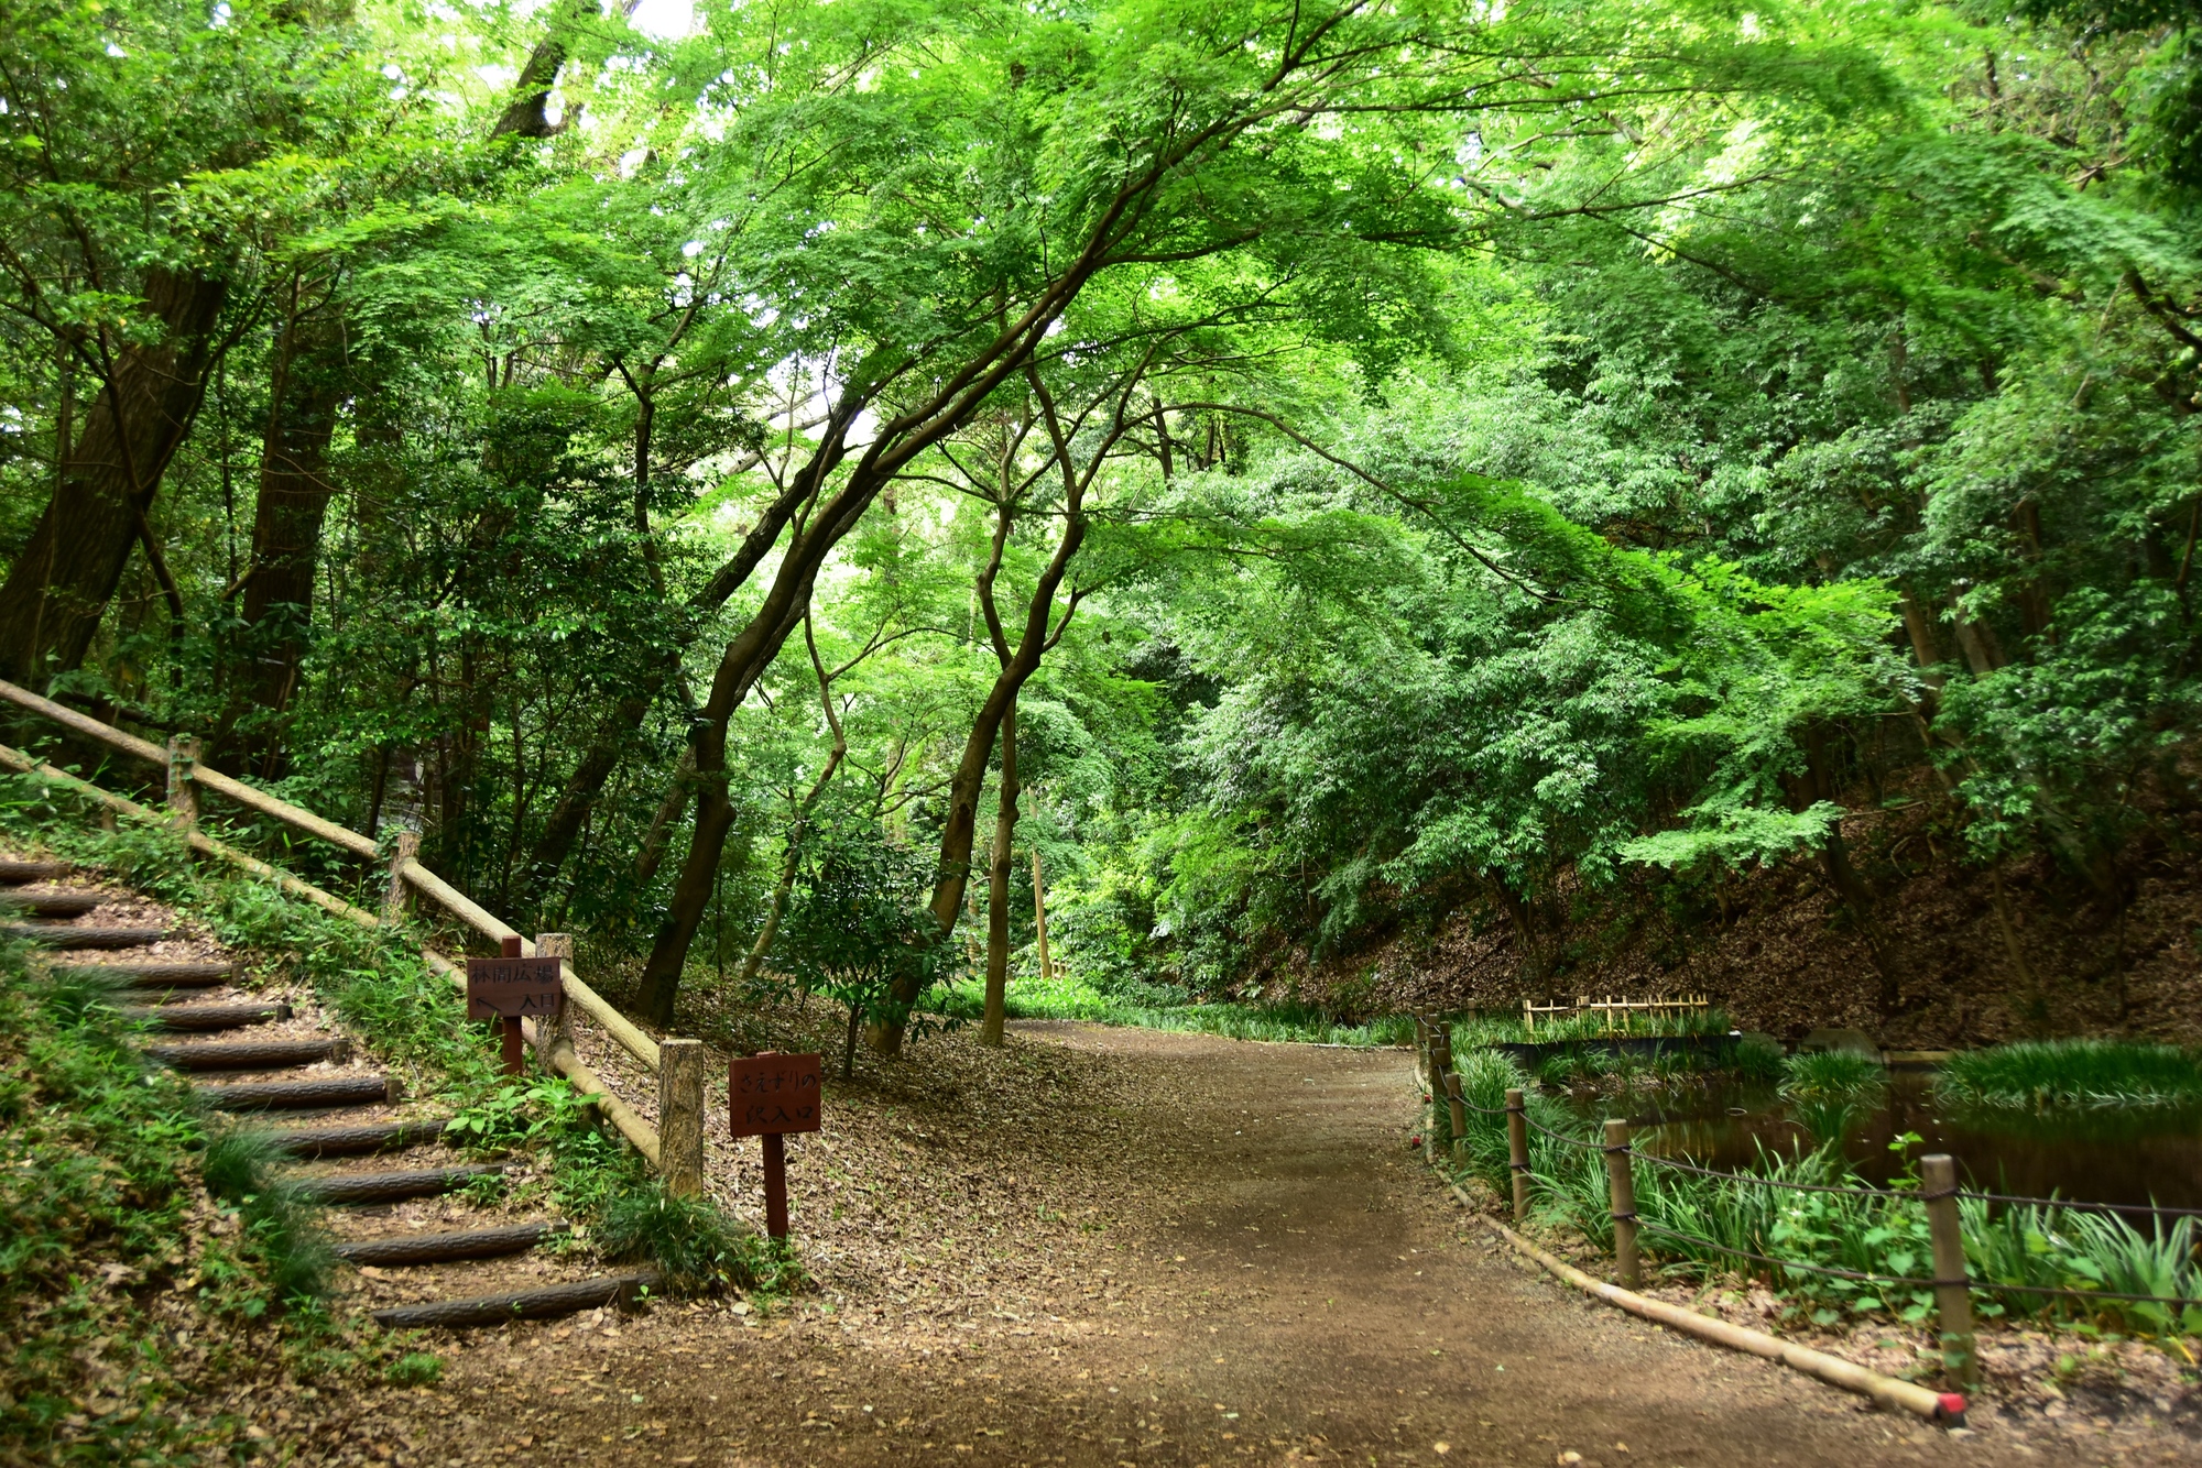
[[[4,26],[0,676],[658,1023],[2193,806],[2193,7]]]

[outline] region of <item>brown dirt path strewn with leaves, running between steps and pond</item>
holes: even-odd
[[[2173,1457],[2165,1437],[2085,1428],[2030,1446],[1951,1437],[1555,1288],[1495,1255],[1405,1149],[1400,1052],[1092,1026],[1024,1026],[1024,1043],[1083,1052],[1083,1074],[1114,1092],[1086,1098],[1099,1120],[1068,1155],[1028,1142],[1028,1166],[1068,1175],[1057,1182],[1072,1217],[1081,1188],[1094,1202],[1083,1233],[1031,1241],[1024,1274],[960,1250],[991,1270],[969,1290],[868,1296],[828,1283],[824,1301],[764,1323],[674,1305],[449,1343],[443,1387],[383,1402],[385,1437],[352,1437],[330,1457],[1141,1468]],[[1000,1133],[1044,1118],[978,1118],[989,1122]],[[1017,1255],[1013,1224],[1000,1244]]]

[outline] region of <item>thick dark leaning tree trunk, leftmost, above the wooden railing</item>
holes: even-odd
[[[161,341],[112,354],[31,544],[0,585],[0,673],[9,680],[42,689],[84,662],[207,392],[225,295],[211,275],[148,271],[145,302]]]

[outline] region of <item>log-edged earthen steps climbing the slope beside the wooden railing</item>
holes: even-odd
[[[454,1160],[447,1118],[410,1103],[310,990],[244,990],[236,960],[167,909],[62,863],[0,858],[0,918],[55,971],[112,984],[148,1056],[293,1158],[348,1266],[337,1307],[478,1327],[619,1305],[656,1283],[592,1272],[586,1250],[564,1248],[562,1219],[511,1202],[524,1162]]]

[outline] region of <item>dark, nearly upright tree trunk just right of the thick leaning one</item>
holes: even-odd
[[[297,693],[313,627],[313,581],[333,493],[328,440],[344,401],[341,341],[326,315],[333,306],[302,317],[295,293],[291,306],[260,447],[260,500],[242,607],[251,662],[240,691],[260,717],[238,746],[262,775],[280,773],[280,720]]]

